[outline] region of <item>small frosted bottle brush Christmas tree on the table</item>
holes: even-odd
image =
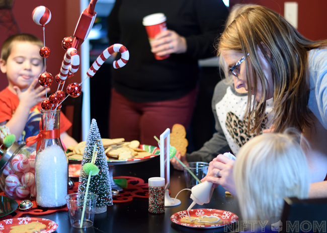
[[[79,174],[78,192],[85,192],[89,175],[83,171],[83,166],[86,163],[91,163],[94,145],[96,145],[97,158],[95,165],[100,172],[96,176],[92,176],[89,186],[89,192],[98,194],[97,211],[96,213],[103,213],[107,211],[107,205],[112,205],[111,184],[109,180],[108,162],[103,148],[101,135],[97,125],[97,121],[92,119],[89,135],[87,138],[83,160],[81,162],[81,170]]]

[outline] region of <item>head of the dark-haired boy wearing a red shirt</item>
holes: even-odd
[[[43,71],[44,59],[39,50],[43,42],[31,34],[17,34],[9,37],[2,46],[0,69],[6,73],[9,88],[17,86],[26,90]]]

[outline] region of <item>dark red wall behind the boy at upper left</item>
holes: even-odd
[[[32,20],[32,12],[38,6],[45,6],[51,12],[51,21],[45,25],[45,46],[51,50],[51,55],[46,60],[46,70],[55,76],[60,71],[65,53],[65,50],[61,47],[61,41],[64,37],[73,35],[79,18],[79,0],[15,0],[12,11],[20,31],[22,33],[34,34],[43,41],[42,26],[36,25]],[[0,13],[2,14],[2,12]],[[0,23],[0,45],[8,36],[7,29]],[[68,84],[72,82],[80,82],[79,71],[69,78]],[[7,86],[6,75],[0,73],[0,90]],[[53,82],[51,91],[56,89],[57,83]]]

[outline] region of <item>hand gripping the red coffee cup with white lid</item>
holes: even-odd
[[[150,43],[151,52],[157,56],[186,52],[187,44],[185,37],[180,36],[175,31],[162,31],[154,38],[155,40]]]

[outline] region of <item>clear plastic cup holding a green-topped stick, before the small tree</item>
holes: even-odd
[[[85,205],[85,213],[83,217],[83,225],[81,228],[93,226],[94,214],[96,212],[98,195],[88,193]],[[72,193],[66,197],[67,208],[69,212],[70,224],[72,227],[80,228],[80,221],[83,212],[85,193]]]

